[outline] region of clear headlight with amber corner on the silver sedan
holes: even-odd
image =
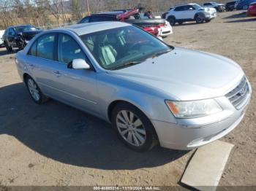
[[[170,111],[177,118],[203,117],[221,112],[222,108],[214,99],[199,101],[165,101]]]

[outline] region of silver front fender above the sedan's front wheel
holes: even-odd
[[[108,119],[108,109],[114,101],[126,101],[136,106],[150,120],[176,122],[175,117],[165,104],[164,93],[154,88],[115,77],[99,77],[99,108]]]

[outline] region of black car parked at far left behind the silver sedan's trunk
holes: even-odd
[[[14,47],[21,50],[40,32],[42,30],[31,25],[10,26],[4,31],[4,46],[7,51],[12,51]]]

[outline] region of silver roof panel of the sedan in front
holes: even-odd
[[[83,24],[75,24],[72,26],[65,26],[64,28],[55,28],[49,31],[73,31],[76,34],[90,34],[97,31],[104,31],[111,28],[119,28],[123,26],[131,26],[129,23],[123,23],[118,21],[106,21],[106,22],[96,22],[96,23],[83,23]]]

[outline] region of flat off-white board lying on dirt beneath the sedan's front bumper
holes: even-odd
[[[214,141],[197,149],[181,183],[197,190],[216,190],[233,146],[223,141]]]

